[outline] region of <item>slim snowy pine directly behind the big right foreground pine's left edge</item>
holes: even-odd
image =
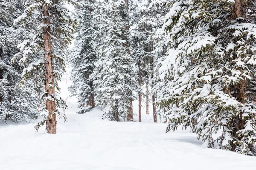
[[[159,65],[157,65],[158,60],[163,60],[166,56],[167,46],[166,42],[166,33],[162,30],[166,13],[169,11],[169,1],[167,0],[149,0],[148,7],[145,9],[148,20],[151,24],[151,34],[149,40],[151,41],[151,53],[149,57],[150,64],[150,81],[151,82],[151,96],[152,96],[152,106],[153,106],[153,119],[154,122],[157,122],[157,109],[155,101],[158,98],[158,85],[157,70]]]

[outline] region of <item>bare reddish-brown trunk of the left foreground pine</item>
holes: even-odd
[[[43,23],[46,25],[43,29],[44,36],[44,67],[45,67],[45,92],[46,97],[51,96],[55,93],[54,82],[53,82],[53,65],[52,65],[52,43],[51,43],[51,28],[49,22],[49,6],[43,7]],[[46,130],[47,133],[56,133],[56,114],[55,111],[55,101],[47,98],[46,109],[48,111],[48,116],[46,120]]]

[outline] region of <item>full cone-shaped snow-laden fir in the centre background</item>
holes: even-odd
[[[132,91],[137,91],[136,74],[130,55],[128,15],[123,0],[111,0],[104,9],[107,35],[102,39],[99,60],[92,74],[95,101],[107,109],[103,118],[120,121],[130,113]]]

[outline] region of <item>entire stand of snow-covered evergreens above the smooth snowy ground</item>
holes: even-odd
[[[256,156],[256,1],[0,0],[0,134],[88,119]]]

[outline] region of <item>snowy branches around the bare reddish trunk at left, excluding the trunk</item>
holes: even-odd
[[[41,92],[41,115],[44,116],[43,122],[37,125],[37,129],[44,124],[47,117],[45,107],[46,96],[49,100],[54,100],[56,110],[54,111],[59,117],[66,116],[58,111],[58,108],[66,108],[66,104],[58,93],[48,95],[43,92],[45,79],[45,60],[44,60],[44,28],[50,27],[52,63],[54,67],[53,79],[55,91],[60,91],[58,81],[65,71],[64,56],[67,54],[67,46],[73,40],[73,32],[76,29],[76,20],[70,15],[66,3],[75,4],[73,0],[25,0],[25,10],[16,20],[15,23],[22,23],[31,29],[33,37],[24,40],[20,45],[20,53],[15,59],[19,59],[21,65],[24,65],[23,83],[34,84],[35,89]],[[48,9],[49,17],[43,17],[44,9]],[[44,24],[44,19],[49,20],[49,25]],[[47,40],[46,40],[47,41]]]

